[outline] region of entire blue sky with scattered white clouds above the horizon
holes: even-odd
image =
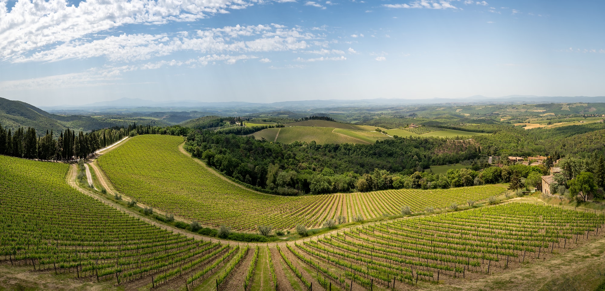
[[[0,1],[0,97],[605,95],[605,2]]]

